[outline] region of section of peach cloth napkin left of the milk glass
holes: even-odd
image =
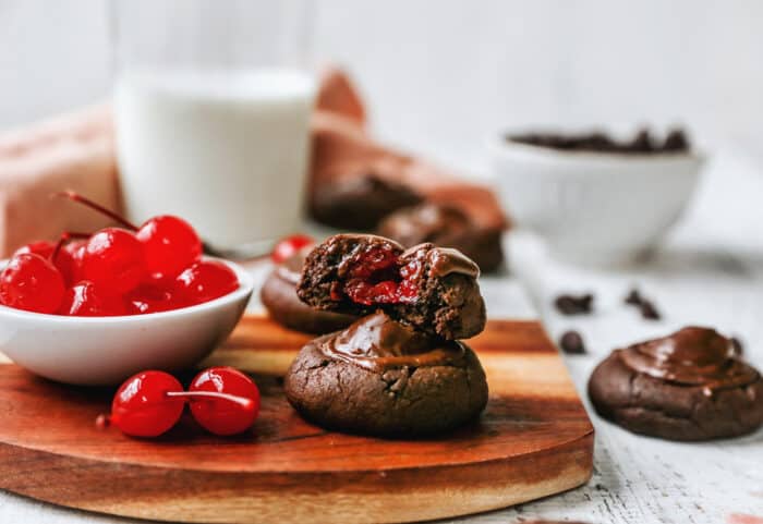
[[[89,232],[108,219],[51,195],[73,190],[119,208],[108,106],[64,114],[0,135],[0,256],[63,231]]]

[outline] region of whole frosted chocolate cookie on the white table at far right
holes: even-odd
[[[591,375],[589,397],[604,418],[670,440],[736,437],[763,424],[761,375],[707,328],[615,350]]]

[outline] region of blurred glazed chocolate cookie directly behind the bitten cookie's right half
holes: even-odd
[[[474,260],[482,271],[494,271],[504,260],[501,230],[474,223],[460,209],[434,203],[398,209],[385,218],[377,232],[404,247],[432,242],[452,247]]]

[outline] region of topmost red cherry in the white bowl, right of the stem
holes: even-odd
[[[174,278],[202,258],[202,241],[185,220],[170,215],[148,219],[135,236],[144,246],[152,276]]]

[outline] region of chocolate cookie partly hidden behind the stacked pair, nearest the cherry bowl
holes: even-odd
[[[270,317],[281,326],[305,333],[329,333],[352,324],[358,317],[314,309],[296,296],[296,283],[312,247],[301,249],[268,275],[259,292]]]

